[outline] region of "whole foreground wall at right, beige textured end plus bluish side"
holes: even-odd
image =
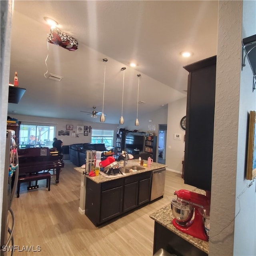
[[[256,92],[250,67],[241,73],[242,34],[255,34],[255,14],[255,1],[219,2],[210,256],[256,255],[256,187],[245,180],[248,112],[255,110]]]

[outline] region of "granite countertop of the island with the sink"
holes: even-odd
[[[138,159],[128,160],[128,164],[126,164],[126,167],[133,166],[133,165],[139,165],[138,163],[139,163]],[[143,166],[143,167],[145,168],[144,170],[140,170],[140,171],[137,171],[137,172],[129,172],[129,173],[125,173],[124,175],[117,175],[117,176],[110,175],[109,176],[110,178],[106,178],[101,174],[99,176],[94,176],[94,177],[90,177],[90,176],[86,175],[86,177],[89,178],[90,180],[93,180],[96,183],[102,183],[102,182],[107,182],[107,181],[110,181],[110,180],[116,180],[116,179],[119,179],[119,178],[128,177],[128,176],[131,176],[131,175],[140,174],[140,173],[143,173],[143,172],[149,172],[149,171],[157,170],[157,169],[160,169],[160,168],[165,168],[166,165],[165,164],[158,164],[156,162],[153,162],[150,167],[147,167],[147,166]],[[83,174],[83,172],[85,172],[85,168],[81,168],[81,167],[74,167],[74,170],[80,172],[81,174]]]

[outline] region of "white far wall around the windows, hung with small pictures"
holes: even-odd
[[[105,124],[105,123],[94,123],[94,122],[82,122],[77,120],[65,120],[57,118],[46,118],[38,116],[24,116],[24,115],[14,115],[9,114],[12,118],[22,121],[22,124],[38,124],[38,125],[52,125],[56,127],[55,137],[63,141],[63,145],[70,145],[74,143],[90,143],[92,138],[92,133],[88,131],[88,136],[80,134],[78,138],[72,138],[70,131],[69,136],[58,136],[58,131],[66,130],[66,125],[73,125],[73,129],[76,132],[76,126],[91,126],[93,129],[106,129],[114,130],[114,142],[112,146],[116,146],[116,134],[118,132],[118,125],[115,124]],[[99,118],[99,117],[98,117]],[[27,122],[26,122],[27,121]],[[53,138],[52,138],[53,139]]]

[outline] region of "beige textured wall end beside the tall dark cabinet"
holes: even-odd
[[[219,1],[209,255],[233,255],[242,1]],[[241,234],[242,235],[242,234]]]

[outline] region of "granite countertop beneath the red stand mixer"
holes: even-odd
[[[205,194],[203,190],[193,190],[194,192],[200,193],[200,194]],[[173,220],[173,215],[172,215],[172,209],[171,209],[171,204],[168,204],[161,208],[160,210],[152,213],[150,215],[150,218],[152,218],[154,221],[158,222],[168,230],[172,231],[176,235],[180,236],[184,240],[190,242],[190,244],[193,244],[196,246],[198,249],[202,250],[203,252],[206,252],[207,254],[209,253],[209,242],[203,241],[201,239],[195,238],[193,236],[190,236],[184,232],[181,232],[177,228],[175,228],[172,224]]]

